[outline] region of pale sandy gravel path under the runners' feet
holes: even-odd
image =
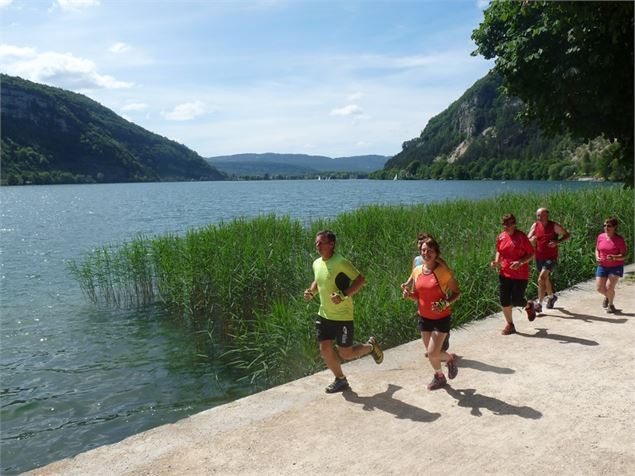
[[[453,331],[459,374],[430,392],[419,341],[36,469],[33,475],[635,474],[635,265],[606,314],[589,281],[518,334]]]

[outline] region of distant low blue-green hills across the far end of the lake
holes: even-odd
[[[236,154],[209,157],[207,162],[218,170],[238,177],[281,175],[303,177],[326,172],[370,173],[383,168],[389,157],[360,155],[325,157],[306,154]]]

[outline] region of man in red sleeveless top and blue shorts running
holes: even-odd
[[[558,263],[558,244],[567,241],[571,236],[560,224],[549,219],[549,210],[536,210],[536,222],[531,225],[527,237],[536,247],[536,269],[538,275],[538,302],[536,312],[542,312],[542,301],[547,295],[547,309],[553,309],[558,296],[553,292],[551,273]]]

